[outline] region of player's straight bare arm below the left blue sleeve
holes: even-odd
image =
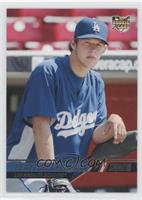
[[[50,130],[50,118],[33,117],[33,133],[38,159],[54,159],[53,138]]]

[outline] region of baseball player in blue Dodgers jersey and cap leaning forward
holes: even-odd
[[[85,17],[76,25],[71,54],[36,67],[8,138],[8,159],[47,160],[64,154],[83,158],[90,140],[112,140],[114,147],[123,143],[124,122],[117,114],[107,118],[104,82],[93,69],[107,49],[107,36],[104,22]],[[65,191],[67,185],[58,179],[11,179],[7,191]]]

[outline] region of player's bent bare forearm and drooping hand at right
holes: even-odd
[[[114,138],[113,143],[119,144],[124,141],[126,135],[127,131],[122,118],[119,115],[111,114],[105,123],[94,130],[93,141],[98,144]]]

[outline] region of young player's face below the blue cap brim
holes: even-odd
[[[85,68],[96,65],[107,45],[99,39],[80,39],[75,46],[75,54],[78,62]]]

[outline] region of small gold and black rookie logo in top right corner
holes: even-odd
[[[120,32],[127,32],[130,29],[130,16],[112,16],[112,28]]]

